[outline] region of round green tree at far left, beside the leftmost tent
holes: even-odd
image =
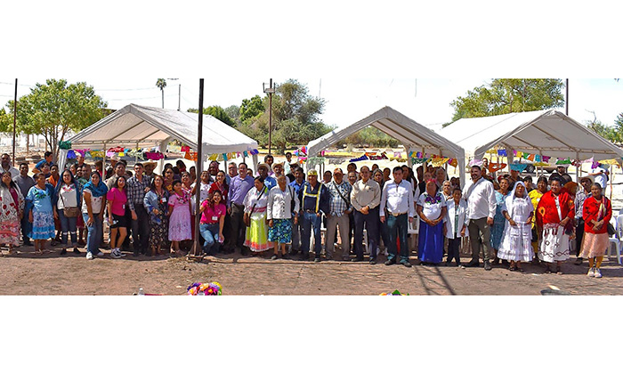
[[[43,134],[54,157],[59,141],[71,129],[78,132],[106,116],[107,103],[85,82],[68,85],[65,79],[37,83],[30,93],[18,99],[17,127],[20,133]],[[7,104],[11,110],[13,101]]]

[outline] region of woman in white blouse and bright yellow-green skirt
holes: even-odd
[[[270,249],[268,242],[268,224],[266,224],[266,207],[268,205],[268,188],[261,176],[255,177],[255,188],[251,188],[245,196],[245,220],[248,219],[245,246],[250,248],[253,256]]]

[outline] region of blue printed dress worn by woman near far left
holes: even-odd
[[[54,231],[52,194],[53,189],[46,185],[45,190],[41,190],[37,186],[30,187],[28,195],[26,195],[27,204],[32,207],[32,231],[28,232],[28,237],[32,240],[53,239],[56,234]]]

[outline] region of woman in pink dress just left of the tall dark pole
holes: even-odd
[[[180,241],[192,240],[190,229],[190,194],[182,189],[182,182],[174,181],[169,196],[169,240],[173,243],[172,254],[182,256]]]

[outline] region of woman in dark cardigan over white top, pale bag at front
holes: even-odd
[[[66,212],[72,208],[76,209],[77,212],[80,211],[82,207],[82,190],[69,170],[62,172],[61,181],[56,184],[54,189],[52,203],[54,219],[61,221],[61,243],[63,245],[61,255],[67,253],[69,235],[71,236],[71,245],[74,248],[74,253],[79,255],[80,251],[77,248],[77,215],[69,216],[70,214],[66,214]]]

